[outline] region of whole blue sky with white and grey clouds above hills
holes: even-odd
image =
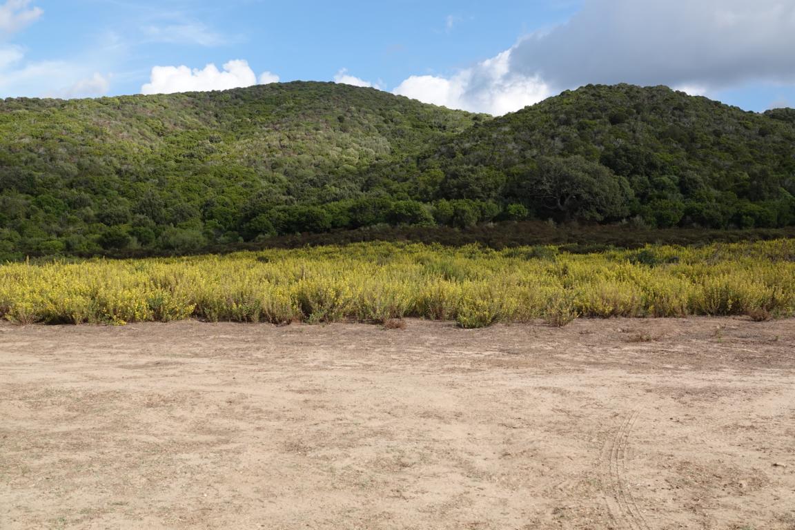
[[[629,82],[766,110],[793,50],[791,0],[0,0],[0,97],[312,79],[502,114]]]

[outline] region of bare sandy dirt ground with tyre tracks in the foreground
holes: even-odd
[[[0,528],[795,529],[795,321],[0,324]]]

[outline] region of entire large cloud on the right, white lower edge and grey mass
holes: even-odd
[[[523,37],[454,75],[415,75],[394,93],[505,114],[588,83],[665,84],[710,95],[795,83],[792,0],[585,0],[567,23]]]

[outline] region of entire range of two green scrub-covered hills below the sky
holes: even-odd
[[[584,87],[502,118],[284,83],[0,102],[0,259],[510,219],[795,224],[795,111]]]

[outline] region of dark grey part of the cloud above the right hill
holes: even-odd
[[[554,87],[700,87],[795,81],[791,0],[586,0],[565,25],[519,42],[510,68]]]

